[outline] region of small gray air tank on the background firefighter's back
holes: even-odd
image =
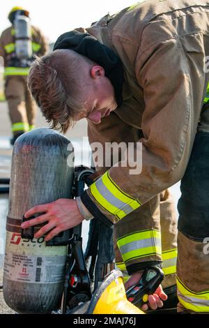
[[[17,15],[14,21],[15,27],[15,54],[20,60],[28,60],[32,57],[31,20],[24,15]]]

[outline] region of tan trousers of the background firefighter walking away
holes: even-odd
[[[5,96],[13,134],[28,131],[35,124],[36,102],[27,87],[27,76],[7,76]]]

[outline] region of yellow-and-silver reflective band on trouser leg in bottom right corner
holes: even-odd
[[[177,277],[178,299],[185,308],[195,312],[209,312],[209,291],[192,292]]]

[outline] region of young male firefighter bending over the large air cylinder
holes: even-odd
[[[29,77],[32,94],[53,128],[65,132],[86,117],[91,143],[134,142],[137,156],[141,142],[142,170],[130,174],[132,162],[127,165],[123,159],[118,165],[98,165],[100,177],[94,177],[81,199],[29,209],[27,218],[45,214],[22,228],[46,222],[36,237],[46,234],[49,240],[95,216],[115,225],[121,265],[131,275],[126,285],[134,284],[150,264],[161,265],[163,255],[173,273],[176,222],[164,190],[183,178],[179,312],[209,311],[209,260],[203,252],[209,235],[208,10],[206,0],[137,3],[88,29],[61,35],[54,52],[37,60]],[[170,218],[164,225],[167,234],[162,231],[167,248],[162,254],[160,198],[167,211],[164,218]],[[164,299],[159,287],[148,303],[157,308]]]

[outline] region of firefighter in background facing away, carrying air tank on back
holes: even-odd
[[[22,20],[18,21],[18,17]],[[8,20],[12,26],[1,34],[0,56],[4,60],[5,96],[12,125],[10,143],[14,144],[17,137],[35,126],[36,102],[27,87],[27,75],[33,55],[45,54],[47,42],[37,27],[31,27],[29,12],[24,8],[12,8]],[[23,32],[22,39],[17,37],[17,30]],[[25,48],[29,53],[24,54]]]

